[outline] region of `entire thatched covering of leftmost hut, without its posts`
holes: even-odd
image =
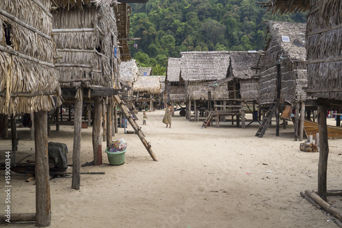
[[[60,85],[50,1],[0,1],[0,113],[51,110]],[[23,10],[25,9],[25,10]]]

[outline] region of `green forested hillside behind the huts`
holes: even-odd
[[[265,21],[305,22],[304,14],[274,14],[268,0],[149,0],[131,5],[132,58],[163,75],[181,51],[263,50]],[[136,43],[137,45],[133,45]]]

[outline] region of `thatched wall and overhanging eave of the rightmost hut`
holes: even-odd
[[[311,97],[342,100],[342,1],[275,0],[263,4],[273,12],[309,11],[306,16],[308,89]]]

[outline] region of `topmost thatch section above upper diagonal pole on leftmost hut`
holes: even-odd
[[[47,5],[47,0],[41,1]],[[47,10],[50,10],[50,5],[47,5]],[[51,32],[51,17],[47,15],[39,5],[31,0],[1,0],[0,9],[16,16],[19,20],[35,27],[42,33],[50,35]],[[34,15],[34,16],[33,16]],[[11,20],[12,21],[12,20]],[[15,22],[12,21],[11,24]],[[16,23],[15,23],[16,24]]]

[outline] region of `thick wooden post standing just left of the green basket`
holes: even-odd
[[[94,152],[94,166],[102,164],[102,102],[101,97],[94,97],[94,121],[92,127],[92,147]]]

